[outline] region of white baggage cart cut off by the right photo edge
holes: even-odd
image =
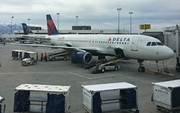
[[[152,102],[158,110],[180,113],[180,79],[152,83]]]

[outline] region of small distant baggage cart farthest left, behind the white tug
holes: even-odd
[[[15,59],[23,59],[25,58],[25,52],[26,50],[12,50],[12,58]]]

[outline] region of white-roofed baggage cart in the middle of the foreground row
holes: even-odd
[[[83,108],[88,113],[133,111],[139,113],[137,87],[127,83],[82,85]]]

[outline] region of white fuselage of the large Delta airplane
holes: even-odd
[[[114,49],[122,49],[124,55],[132,59],[166,60],[174,55],[158,39],[143,35],[52,35],[47,38],[55,46],[92,49],[105,55],[116,55]]]

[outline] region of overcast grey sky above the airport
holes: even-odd
[[[180,0],[0,0],[0,23],[39,25],[46,28],[46,14],[51,14],[57,26],[59,15],[60,30],[71,30],[76,25],[90,25],[92,29],[118,29],[118,11],[120,11],[120,29],[139,30],[140,24],[151,24],[151,31],[180,23]],[[58,26],[57,26],[58,27]]]

